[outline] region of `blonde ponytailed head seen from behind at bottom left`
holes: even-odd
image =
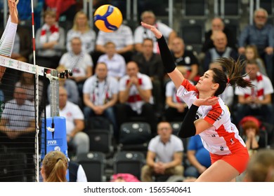
[[[42,169],[44,170],[45,182],[66,182],[67,158],[60,151],[51,151],[46,154]]]

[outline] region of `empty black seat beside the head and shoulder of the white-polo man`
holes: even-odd
[[[148,151],[150,125],[144,122],[123,123],[119,132],[119,151]]]

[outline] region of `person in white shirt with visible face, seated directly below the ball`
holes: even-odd
[[[105,43],[105,54],[100,55],[98,62],[107,64],[107,74],[117,80],[126,74],[126,61],[122,55],[117,53],[113,42]]]

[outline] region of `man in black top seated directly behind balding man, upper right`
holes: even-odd
[[[216,32],[223,31],[226,34],[228,40],[228,47],[236,50],[236,34],[235,32],[230,31],[221,18],[213,18],[211,20],[211,29],[204,34],[204,44],[202,45],[202,52],[207,52],[207,50],[214,48],[214,36]]]

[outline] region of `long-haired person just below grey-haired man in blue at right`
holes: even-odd
[[[268,74],[266,73],[266,66],[264,65],[263,60],[258,54],[256,45],[247,45],[245,47],[244,56],[247,60],[256,60],[259,66],[259,71],[263,73],[263,75],[268,76]]]

